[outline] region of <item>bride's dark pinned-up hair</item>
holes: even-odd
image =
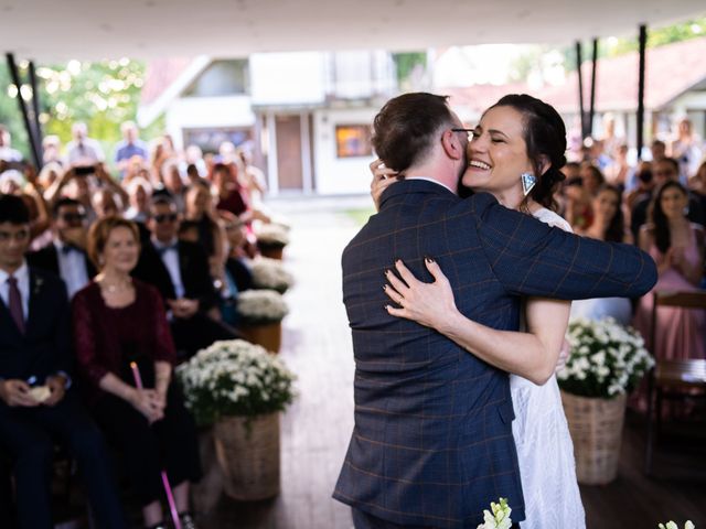
[[[511,107],[522,114],[527,158],[532,160],[537,179],[528,197],[544,207],[557,210],[554,195],[559,183],[566,179],[560,171],[566,165],[566,126],[561,116],[552,105],[526,94],[509,94],[490,108],[495,107]],[[543,173],[542,168],[546,162],[549,168]],[[526,209],[526,205],[527,197],[520,204],[520,209]]]

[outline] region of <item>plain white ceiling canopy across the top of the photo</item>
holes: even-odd
[[[703,0],[0,0],[0,42],[39,62],[406,51],[634,35],[703,12]]]

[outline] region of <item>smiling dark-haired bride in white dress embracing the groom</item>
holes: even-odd
[[[475,192],[491,193],[505,207],[570,231],[552,209],[553,194],[564,180],[566,129],[549,105],[527,95],[509,95],[482,116],[469,142],[469,163],[461,183]],[[387,186],[404,175],[371,164],[372,194],[376,204]],[[516,241],[522,245],[522,240]],[[463,316],[449,282],[432,259],[426,259],[434,283],[418,281],[404,263],[388,274],[385,285],[393,300],[404,298],[404,307],[389,314],[414,320],[437,330],[477,357],[511,374],[516,419],[513,436],[517,446],[526,521],[523,529],[586,527],[576,481],[574,446],[561,408],[554,368],[559,361],[570,302],[531,298],[525,303],[526,333],[496,331]],[[561,278],[557,278],[557,282]],[[513,357],[533,353],[542,361],[520,368]]]

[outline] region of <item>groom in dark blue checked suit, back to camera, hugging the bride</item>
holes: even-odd
[[[342,259],[355,427],[333,497],[353,507],[357,529],[474,529],[499,497],[525,518],[507,374],[387,314],[382,287],[396,259],[427,281],[424,259],[436,259],[463,314],[511,331],[520,296],[633,298],[656,280],[637,248],[550,228],[489,194],[459,198],[468,138],[454,129],[447,98],[431,94],[396,97],[374,121],[375,151],[406,179]]]

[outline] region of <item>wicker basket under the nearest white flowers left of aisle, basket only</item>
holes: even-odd
[[[214,425],[225,493],[240,501],[279,494],[279,413],[224,417]]]

